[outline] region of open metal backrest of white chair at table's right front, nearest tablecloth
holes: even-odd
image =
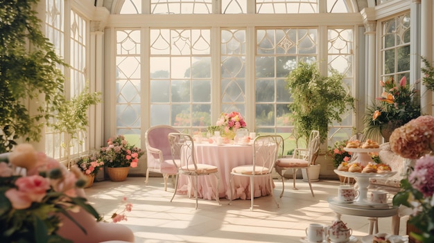
[[[280,135],[263,135],[254,138],[253,170],[255,174],[268,174],[275,166],[284,138]]]

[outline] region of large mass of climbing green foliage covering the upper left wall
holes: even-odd
[[[64,100],[59,66],[67,64],[41,31],[37,2],[0,8],[0,153],[11,151],[19,139],[40,141],[42,127]]]

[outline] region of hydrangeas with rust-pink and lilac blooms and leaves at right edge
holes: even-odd
[[[411,232],[410,237],[419,242],[434,242],[434,117],[419,116],[395,129],[390,136],[390,148],[403,158],[417,159],[401,180],[402,190],[393,197],[393,204],[412,211],[408,223],[417,232]]]

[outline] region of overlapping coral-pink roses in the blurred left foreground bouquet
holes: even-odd
[[[12,207],[24,209],[31,206],[33,201],[40,202],[49,190],[50,184],[44,177],[33,175],[29,177],[20,177],[15,181],[18,187],[11,188],[5,192]]]

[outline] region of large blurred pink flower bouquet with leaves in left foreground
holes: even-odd
[[[30,144],[21,144],[0,162],[0,237],[2,242],[68,242],[58,234],[60,215],[78,207],[100,215],[80,197],[85,184],[77,168],[67,170]],[[85,228],[74,221],[83,232]]]

